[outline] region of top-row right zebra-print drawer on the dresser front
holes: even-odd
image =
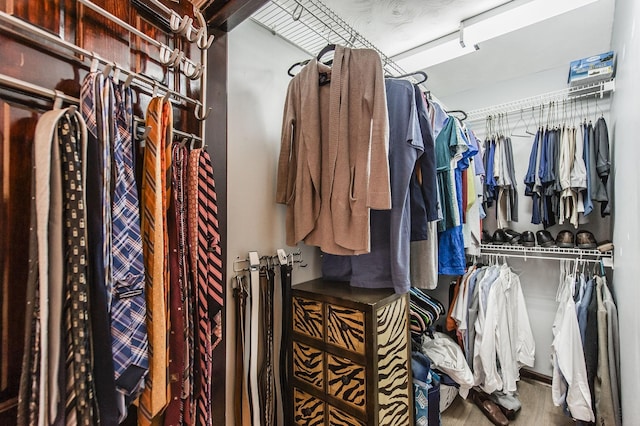
[[[364,353],[364,312],[327,305],[327,343]]]

